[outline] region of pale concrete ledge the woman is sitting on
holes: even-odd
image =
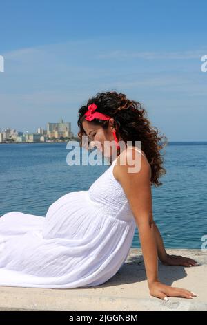
[[[191,268],[164,266],[159,263],[159,278],[165,284],[193,290],[193,299],[170,297],[169,301],[148,293],[141,250],[131,248],[119,272],[100,286],[73,289],[0,287],[0,310],[206,310],[207,251],[167,249],[195,259],[200,265]]]

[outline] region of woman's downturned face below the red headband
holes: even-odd
[[[115,140],[112,133],[114,130],[112,118],[109,120],[107,129],[103,129],[101,125],[93,124],[92,121],[89,122],[87,120],[83,121],[83,129],[90,141],[97,146],[98,150],[103,152],[104,156],[109,157],[112,155],[112,148],[115,147],[114,145],[112,147],[110,146],[110,141]]]

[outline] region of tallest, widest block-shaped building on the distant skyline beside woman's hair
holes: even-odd
[[[59,138],[61,136],[68,138],[73,137],[73,133],[71,131],[71,123],[63,122],[63,119],[61,119],[59,123],[48,123],[47,133],[50,138]]]

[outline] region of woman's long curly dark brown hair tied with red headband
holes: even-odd
[[[146,118],[146,109],[143,108],[140,102],[126,98],[124,93],[117,93],[116,91],[97,93],[96,97],[91,97],[86,105],[81,106],[78,112],[78,136],[81,139],[81,146],[82,136],[86,136],[82,125],[85,119],[83,115],[88,111],[88,106],[92,103],[97,105],[96,111],[109,115],[115,120],[116,135],[119,140],[123,140],[125,143],[130,141],[133,146],[135,141],[141,141],[141,150],[146,154],[152,170],[151,186],[153,184],[155,187],[162,185],[159,177],[166,174],[166,169],[162,166],[164,158],[162,158],[159,151],[167,145],[168,139],[166,136],[159,136],[157,127],[152,127],[150,121]],[[92,123],[101,125],[103,129],[108,128],[108,120],[95,118]],[[161,139],[166,141],[161,142]]]

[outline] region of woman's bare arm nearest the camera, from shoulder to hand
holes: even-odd
[[[126,159],[126,164],[123,165],[121,162],[121,165],[119,165],[120,158]],[[136,165],[134,165],[136,169],[137,163],[141,162],[139,171],[128,171],[133,167],[131,163],[129,165],[128,162],[132,161],[136,162]],[[126,149],[126,151],[123,151],[119,156],[115,168],[116,178],[124,189],[137,223],[150,295],[161,299],[167,299],[166,296],[192,298],[194,294],[190,291],[161,284],[158,279],[157,241],[155,224],[152,218],[150,164],[146,158],[137,153],[137,151]],[[159,250],[159,254],[160,252],[163,253],[162,250]]]

